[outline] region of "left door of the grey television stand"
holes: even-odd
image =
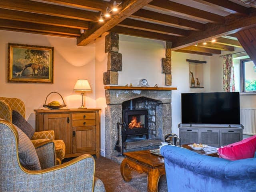
[[[180,129],[181,144],[199,143],[199,131],[194,129]]]

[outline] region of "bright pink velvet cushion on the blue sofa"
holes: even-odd
[[[256,135],[218,149],[220,158],[238,160],[253,158],[256,150]]]

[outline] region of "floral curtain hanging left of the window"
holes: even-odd
[[[232,54],[224,55],[223,58],[223,90],[233,92],[235,91],[235,81]]]

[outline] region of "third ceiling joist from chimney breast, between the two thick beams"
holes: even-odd
[[[199,22],[194,22],[191,20],[186,20],[166,14],[161,14],[153,11],[148,11],[145,9],[140,9],[130,17],[132,18],[139,18],[142,20],[157,22],[160,24],[167,24],[172,25],[184,29],[191,29],[191,30],[204,30],[204,24]]]

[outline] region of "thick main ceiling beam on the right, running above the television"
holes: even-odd
[[[205,24],[204,31],[191,32],[189,36],[177,38],[173,42],[172,50],[177,50],[189,45],[193,45],[202,41],[207,41],[209,38],[218,38],[220,36],[233,34],[239,30],[256,26],[256,11],[254,10],[248,16],[229,15],[225,17],[224,24]]]

